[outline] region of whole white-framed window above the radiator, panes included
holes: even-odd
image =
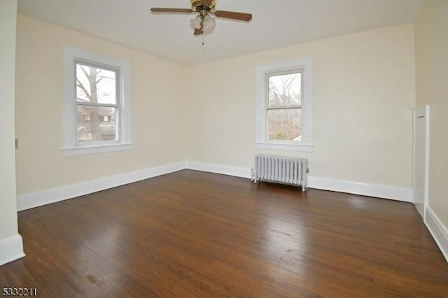
[[[258,66],[258,148],[311,151],[311,114],[311,58]]]

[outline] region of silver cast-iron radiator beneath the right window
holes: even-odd
[[[256,155],[252,181],[258,180],[302,186],[308,185],[308,159],[274,155]]]

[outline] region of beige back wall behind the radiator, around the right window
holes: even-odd
[[[256,150],[255,68],[302,57],[313,58],[314,152]],[[412,188],[414,64],[403,24],[192,66],[188,160],[252,167],[256,152],[281,153],[308,157],[319,178]]]

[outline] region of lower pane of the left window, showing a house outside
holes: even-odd
[[[78,105],[78,142],[116,141],[117,109]]]

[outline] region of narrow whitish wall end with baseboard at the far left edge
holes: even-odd
[[[14,84],[17,1],[0,1],[0,265],[23,256],[15,201]]]

